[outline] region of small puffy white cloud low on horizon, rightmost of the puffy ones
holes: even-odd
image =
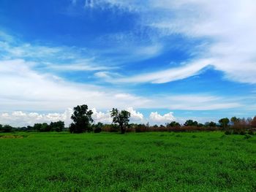
[[[176,118],[174,118],[173,112],[168,112],[165,115],[160,115],[158,112],[151,112],[151,114],[149,115],[150,123],[164,124],[164,123],[170,123],[175,119]]]

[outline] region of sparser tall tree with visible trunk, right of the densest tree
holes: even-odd
[[[121,112],[119,112],[117,109],[113,108],[113,110],[110,111],[110,115],[111,118],[113,118],[113,123],[118,123],[121,134],[124,134],[127,129],[131,113],[126,110],[121,110]]]

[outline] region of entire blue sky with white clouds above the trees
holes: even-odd
[[[0,0],[0,123],[256,115],[255,0]]]

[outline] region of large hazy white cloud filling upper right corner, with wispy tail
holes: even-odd
[[[214,69],[225,72],[228,80],[256,83],[256,3],[254,0],[100,0],[94,1],[94,5],[136,12],[140,15],[138,23],[141,26],[157,29],[159,37],[181,34],[190,39],[205,39],[208,45],[198,54],[199,62],[203,55],[203,58],[213,60]],[[154,34],[154,36],[157,35]],[[191,67],[195,63],[197,63],[196,60],[192,62]],[[180,73],[178,77],[156,72],[142,74],[141,77],[140,75],[128,77],[127,82],[169,82],[187,78],[200,69],[195,67],[195,71],[191,73],[179,68],[177,70]],[[158,74],[163,76],[155,77]],[[157,80],[154,81],[154,79]]]

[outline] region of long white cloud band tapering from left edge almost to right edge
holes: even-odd
[[[207,95],[136,96],[101,86],[66,82],[50,74],[38,74],[23,60],[0,61],[1,112],[59,111],[78,104],[99,110],[163,108],[170,110],[218,110],[243,107],[239,99]]]

